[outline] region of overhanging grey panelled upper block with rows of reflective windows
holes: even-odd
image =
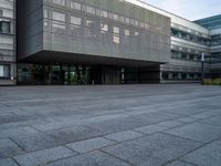
[[[18,1],[19,60],[147,65],[170,58],[170,18],[122,0]]]

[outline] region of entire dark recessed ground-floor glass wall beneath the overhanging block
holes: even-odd
[[[18,64],[19,85],[159,83],[159,65],[125,68],[78,64]]]

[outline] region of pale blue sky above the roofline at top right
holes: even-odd
[[[221,14],[221,0],[141,0],[188,20]]]

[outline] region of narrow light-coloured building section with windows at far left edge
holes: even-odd
[[[0,0],[0,85],[14,85],[15,0]]]

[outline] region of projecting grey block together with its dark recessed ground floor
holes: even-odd
[[[28,81],[160,82],[160,64],[169,62],[170,19],[143,7],[119,0],[21,0],[18,7],[18,59],[35,63]]]

